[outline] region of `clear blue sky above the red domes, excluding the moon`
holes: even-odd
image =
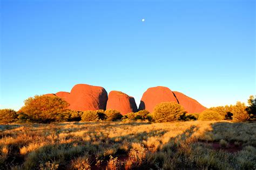
[[[255,1],[1,1],[1,108],[86,83],[206,107],[255,89]],[[142,22],[142,19],[145,19]]]

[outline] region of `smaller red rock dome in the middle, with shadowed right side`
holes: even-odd
[[[122,115],[137,111],[137,105],[132,96],[121,91],[110,91],[106,109],[119,110]]]

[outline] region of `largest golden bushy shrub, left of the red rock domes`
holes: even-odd
[[[24,101],[24,106],[19,112],[28,115],[32,121],[49,123],[62,121],[66,116],[69,104],[57,96],[29,97]]]

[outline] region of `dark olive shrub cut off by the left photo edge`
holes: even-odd
[[[0,109],[0,123],[11,123],[17,121],[18,115],[12,109]]]

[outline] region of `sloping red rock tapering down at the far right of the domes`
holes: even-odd
[[[199,113],[206,109],[198,101],[184,95],[183,93],[180,93],[178,91],[173,91],[173,93],[176,96],[179,104],[183,105],[183,107],[188,113]]]

